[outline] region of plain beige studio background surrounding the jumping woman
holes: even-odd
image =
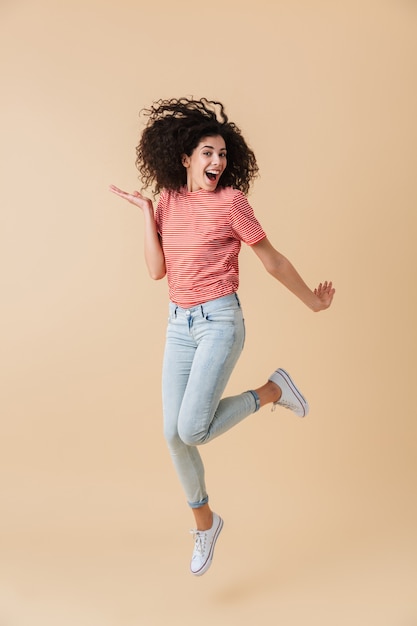
[[[1,626],[414,626],[417,5],[412,0],[3,0]],[[167,290],[147,277],[138,111],[222,100],[251,203],[315,315],[242,252],[229,385],[294,373],[203,450],[225,518],[192,525],[161,434]],[[243,515],[242,515],[243,513]]]

